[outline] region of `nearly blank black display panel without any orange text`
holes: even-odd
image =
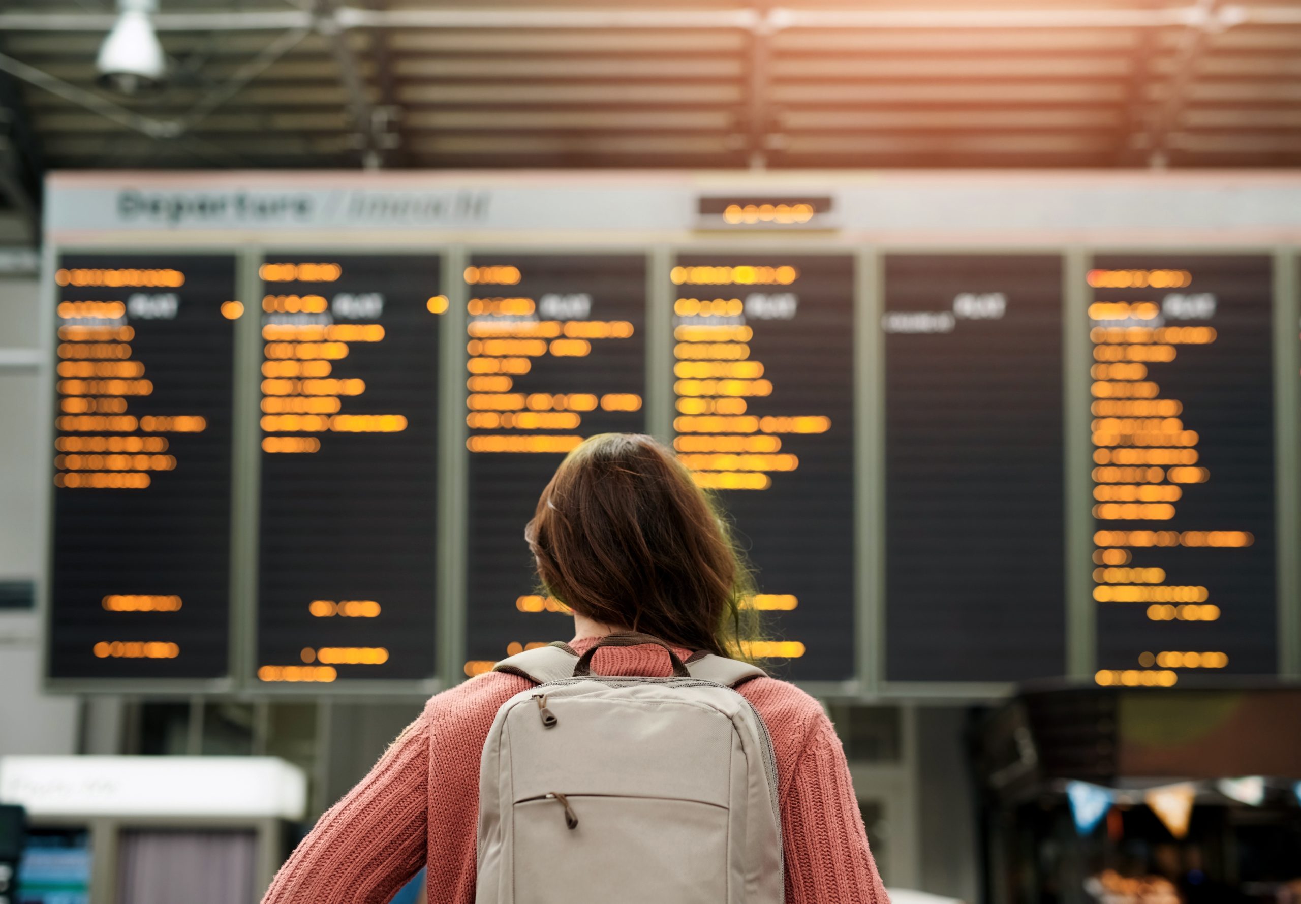
[[[886,676],[1066,669],[1062,259],[889,255]]]

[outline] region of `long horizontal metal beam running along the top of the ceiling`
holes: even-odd
[[[1200,3],[1134,9],[360,9],[338,7],[341,29],[1159,29],[1222,30],[1237,25],[1301,25],[1294,7],[1227,4],[1206,21]],[[0,31],[108,31],[116,16],[0,13]],[[159,31],[284,31],[316,25],[312,10],[157,13]]]

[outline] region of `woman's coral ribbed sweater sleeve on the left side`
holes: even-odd
[[[384,904],[424,866],[429,728],[422,715],[329,808],[263,904]]]

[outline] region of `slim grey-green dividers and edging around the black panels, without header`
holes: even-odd
[[[64,246],[49,246],[46,248],[46,258],[53,261],[59,255],[64,254],[103,254],[112,246],[101,245],[64,245]],[[316,251],[321,254],[364,254],[369,248],[355,246],[340,246],[337,242],[303,242],[301,239],[284,241],[276,243],[277,250],[282,251]],[[665,429],[667,424],[671,424],[673,419],[673,399],[669,393],[654,390],[662,385],[671,381],[670,356],[666,350],[670,347],[671,337],[671,286],[669,286],[667,280],[660,278],[660,269],[664,268],[666,261],[675,260],[679,255],[743,255],[743,254],[771,254],[778,248],[773,247],[770,242],[764,242],[761,239],[755,242],[726,242],[719,243],[717,241],[703,241],[699,243],[671,243],[661,246],[648,246],[648,245],[631,245],[631,246],[578,246],[578,245],[527,245],[527,243],[510,243],[510,245],[493,245],[493,243],[477,243],[475,246],[451,246],[444,245],[433,250],[416,248],[410,246],[402,247],[385,247],[382,254],[392,255],[428,255],[437,254],[444,263],[442,273],[442,289],[444,294],[450,299],[449,311],[445,316],[445,323],[442,328],[442,337],[440,339],[440,354],[442,359],[440,367],[442,369],[441,380],[441,394],[440,399],[442,403],[442,414],[440,415],[440,502],[438,502],[438,522],[440,529],[444,531],[445,542],[440,544],[436,554],[440,558],[438,567],[438,589],[436,604],[438,607],[438,656],[437,656],[437,679],[422,680],[422,682],[406,682],[406,680],[364,680],[364,679],[351,679],[336,682],[328,688],[330,695],[364,695],[364,696],[389,696],[389,695],[409,695],[419,696],[431,693],[440,687],[446,687],[450,682],[458,680],[455,675],[454,663],[463,658],[459,650],[464,649],[464,606],[463,602],[457,602],[462,600],[462,592],[459,588],[464,587],[464,555],[466,550],[463,548],[464,537],[461,531],[454,529],[454,527],[462,523],[466,499],[461,498],[464,493],[463,477],[468,471],[468,453],[464,449],[464,428],[462,419],[450,416],[450,412],[459,411],[459,403],[462,401],[461,395],[461,380],[453,379],[461,377],[464,364],[464,343],[459,339],[463,338],[464,333],[464,299],[468,297],[467,286],[462,280],[457,278],[462,264],[470,259],[471,254],[533,254],[533,255],[546,255],[546,254],[643,254],[647,258],[647,281],[648,281],[648,294],[647,294],[647,330],[648,330],[648,346],[647,346],[647,401],[645,401],[645,421],[648,432],[660,436],[660,438],[671,438],[669,431]],[[380,250],[375,250],[381,252]],[[159,254],[233,254],[237,259],[237,285],[238,291],[242,295],[254,297],[256,293],[258,280],[258,267],[264,263],[263,246],[163,246],[157,248]],[[991,698],[1007,693],[1011,685],[1006,684],[989,684],[989,683],[952,683],[952,682],[890,682],[883,674],[883,617],[885,617],[885,596],[883,588],[877,587],[877,583],[883,578],[883,574],[873,574],[873,567],[879,568],[883,562],[883,557],[879,550],[879,544],[872,540],[876,531],[879,531],[882,514],[877,511],[879,506],[883,506],[883,460],[881,459],[881,446],[885,442],[883,437],[883,424],[879,423],[879,418],[883,416],[883,375],[877,373],[879,364],[879,349],[877,349],[877,342],[881,341],[878,321],[879,313],[882,311],[882,272],[883,260],[887,255],[908,255],[908,254],[928,254],[928,255],[990,255],[1002,256],[1011,254],[1047,254],[1047,255],[1060,255],[1063,259],[1063,272],[1066,286],[1063,291],[1063,303],[1069,307],[1072,303],[1079,303],[1081,298],[1081,291],[1075,284],[1079,282],[1076,276],[1082,276],[1082,273],[1092,264],[1092,260],[1097,255],[1111,254],[1112,251],[1103,246],[1089,246],[1088,248],[1079,247],[1045,247],[1045,246],[1004,246],[999,245],[994,248],[987,246],[889,246],[889,245],[873,245],[873,246],[852,246],[852,245],[839,245],[834,243],[830,246],[824,246],[822,248],[805,248],[799,247],[791,254],[799,254],[801,256],[811,255],[852,255],[857,261],[857,277],[856,277],[856,294],[855,304],[857,311],[856,321],[856,337],[855,337],[855,381],[857,384],[859,392],[855,395],[855,411],[856,411],[856,459],[859,466],[855,472],[855,494],[857,498],[856,516],[855,516],[855,549],[857,554],[856,559],[856,609],[859,624],[856,627],[857,641],[857,670],[856,678],[852,682],[805,682],[801,683],[803,687],[809,689],[812,693],[830,696],[830,697],[859,697],[859,698]],[[1140,254],[1235,254],[1235,255],[1248,255],[1248,254],[1267,254],[1271,255],[1275,261],[1275,284],[1274,284],[1274,297],[1275,297],[1275,386],[1276,389],[1283,385],[1284,373],[1283,367],[1285,359],[1279,355],[1281,351],[1279,346],[1284,345],[1278,338],[1278,326],[1280,323],[1285,323],[1285,316],[1283,313],[1284,306],[1287,306],[1288,299],[1294,297],[1297,293],[1294,290],[1296,285],[1296,269],[1298,267],[1297,252],[1291,248],[1259,248],[1259,247],[1244,247],[1244,246],[1227,246],[1227,247],[1207,247],[1207,246],[1142,246],[1142,247],[1129,247],[1120,252],[1140,252]],[[48,264],[52,267],[53,264]],[[1289,290],[1289,282],[1287,278],[1288,273],[1293,273]],[[51,281],[46,281],[48,303],[53,304],[53,293],[48,290],[52,285]],[[1073,298],[1073,300],[1072,300]],[[458,303],[459,302],[459,303]],[[1301,303],[1293,302],[1291,306],[1293,308],[1301,308]],[[43,324],[44,320],[43,319]],[[256,334],[250,326],[243,326],[245,321],[255,323],[256,319],[245,317],[237,323],[237,359],[243,356],[255,355],[256,346],[260,345],[260,336]],[[1069,360],[1072,343],[1079,345],[1079,342],[1086,338],[1086,329],[1079,329],[1079,324],[1075,324],[1075,317],[1064,316],[1064,351],[1063,355],[1063,385],[1067,397],[1075,397],[1079,399],[1086,399],[1088,386],[1086,381],[1081,380],[1079,376],[1079,367],[1072,367]],[[52,321],[51,321],[52,323]],[[48,324],[43,325],[43,329],[52,329]],[[1075,334],[1072,337],[1072,334]],[[52,337],[47,338],[47,342],[52,342]],[[254,349],[250,350],[250,343]],[[658,346],[660,351],[656,351]],[[1301,355],[1298,355],[1301,356]],[[247,367],[235,369],[235,428],[233,431],[233,497],[234,502],[234,515],[232,520],[233,532],[241,535],[243,538],[237,540],[235,545],[232,548],[232,606],[230,606],[230,671],[225,678],[219,679],[200,679],[200,680],[176,680],[168,682],[165,689],[157,687],[157,679],[47,679],[46,685],[51,691],[62,692],[164,692],[164,693],[221,693],[229,692],[232,689],[242,688],[247,693],[255,693],[259,696],[319,696],[323,692],[321,687],[312,687],[308,684],[298,685],[277,685],[267,687],[255,678],[250,676],[250,666],[252,662],[252,654],[250,645],[255,641],[255,602],[251,602],[246,593],[239,591],[247,589],[248,585],[248,570],[247,563],[250,557],[256,555],[256,549],[247,549],[250,542],[247,537],[256,536],[256,514],[247,511],[250,503],[246,501],[239,501],[239,494],[247,494],[250,492],[250,472],[252,473],[251,488],[252,492],[256,490],[258,479],[258,466],[251,464],[250,459],[258,458],[256,444],[256,431],[245,427],[243,431],[239,428],[239,398],[248,395],[250,392],[256,393],[256,380],[243,379],[241,375]],[[245,375],[247,377],[247,375]],[[247,385],[245,385],[247,384]],[[46,377],[47,397],[52,398],[53,377],[47,375]],[[1301,398],[1301,389],[1294,390],[1296,395]],[[1086,402],[1085,402],[1086,405]],[[1278,414],[1281,415],[1283,408],[1287,405],[1287,393],[1276,393],[1276,408]],[[48,415],[48,412],[47,412]],[[1069,424],[1069,410],[1064,418],[1067,433],[1072,432]],[[658,425],[658,429],[656,429]],[[1297,455],[1294,447],[1288,447],[1285,442],[1285,429],[1287,425],[1283,420],[1276,419],[1276,455],[1275,455],[1275,468],[1278,472],[1278,492],[1279,498],[1288,498],[1288,485],[1287,480],[1292,480],[1293,485],[1297,479],[1291,477],[1289,462],[1301,463],[1301,457]],[[1076,425],[1075,434],[1080,436],[1079,425]],[[52,434],[52,416],[51,423],[47,425],[47,432]],[[245,433],[246,436],[241,436]],[[1072,445],[1071,442],[1067,444]],[[1086,463],[1085,463],[1086,464]],[[1085,496],[1077,496],[1079,498],[1085,498],[1089,481],[1086,475],[1086,468],[1081,471],[1079,466],[1071,467],[1066,466],[1068,472],[1068,497],[1072,488],[1079,490],[1082,489]],[[1084,475],[1081,479],[1081,473]],[[242,488],[242,489],[241,489]],[[866,505],[864,505],[866,503]],[[255,507],[255,506],[254,506]],[[1288,536],[1288,527],[1293,536],[1301,533],[1297,529],[1296,523],[1298,520],[1296,509],[1298,506],[1287,506],[1280,503],[1278,506],[1278,542],[1280,553],[1284,549],[1284,542]],[[1082,516],[1081,516],[1082,515]],[[1077,527],[1084,523],[1090,523],[1092,519],[1088,514],[1088,506],[1081,506],[1079,503],[1071,505],[1069,499],[1067,502],[1067,522],[1068,525],[1073,522]],[[44,532],[48,533],[53,527],[53,519],[47,515],[47,525]],[[250,529],[251,528],[251,529]],[[1069,528],[1068,528],[1069,532]],[[1071,596],[1082,598],[1088,605],[1088,619],[1090,622],[1089,631],[1085,635],[1080,630],[1080,615],[1073,617],[1073,623],[1067,631],[1067,645],[1071,666],[1067,672],[1068,676],[1075,676],[1076,679],[1085,679],[1088,674],[1092,674],[1094,653],[1092,650],[1093,645],[1093,631],[1095,626],[1092,624],[1094,620],[1093,601],[1088,598],[1088,592],[1092,589],[1092,583],[1085,587],[1080,587],[1080,578],[1088,578],[1086,570],[1072,568],[1072,563],[1077,562],[1081,550],[1088,545],[1088,536],[1092,533],[1090,529],[1080,527],[1080,529],[1073,531],[1072,541],[1068,542],[1067,554],[1067,583],[1072,583],[1072,571],[1079,572],[1075,575],[1075,587],[1068,591],[1067,601],[1064,605],[1071,609],[1069,602]],[[1080,540],[1085,542],[1080,542]],[[255,546],[255,544],[251,544]],[[241,548],[243,548],[241,550]],[[48,557],[48,550],[47,550]],[[1285,649],[1287,639],[1291,636],[1287,631],[1291,623],[1296,623],[1298,617],[1293,611],[1293,606],[1287,602],[1287,593],[1289,587],[1297,587],[1301,584],[1301,578],[1292,574],[1296,571],[1294,563],[1288,561],[1288,557],[1280,554],[1276,557],[1279,568],[1279,630],[1280,630],[1280,645],[1279,657],[1285,659],[1289,652]],[[1075,591],[1072,594],[1071,591]],[[48,618],[48,605],[46,602],[44,594],[48,593],[48,584],[42,587],[42,609],[47,613]],[[238,598],[235,598],[238,597]],[[453,602],[446,602],[453,601]],[[1072,617],[1068,614],[1068,619]],[[1085,648],[1089,648],[1088,650]],[[43,653],[44,654],[44,653]],[[1296,656],[1292,652],[1291,656]],[[450,665],[449,665],[450,663]]]

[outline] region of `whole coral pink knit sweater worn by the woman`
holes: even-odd
[[[570,646],[582,653],[592,643]],[[592,667],[601,675],[671,674],[657,646],[602,646]],[[321,816],[263,904],[384,904],[422,866],[431,904],[474,901],[479,757],[497,710],[527,687],[516,675],[490,672],[432,697],[369,775]],[[738,689],[777,752],[787,904],[889,904],[822,708],[771,678]]]

